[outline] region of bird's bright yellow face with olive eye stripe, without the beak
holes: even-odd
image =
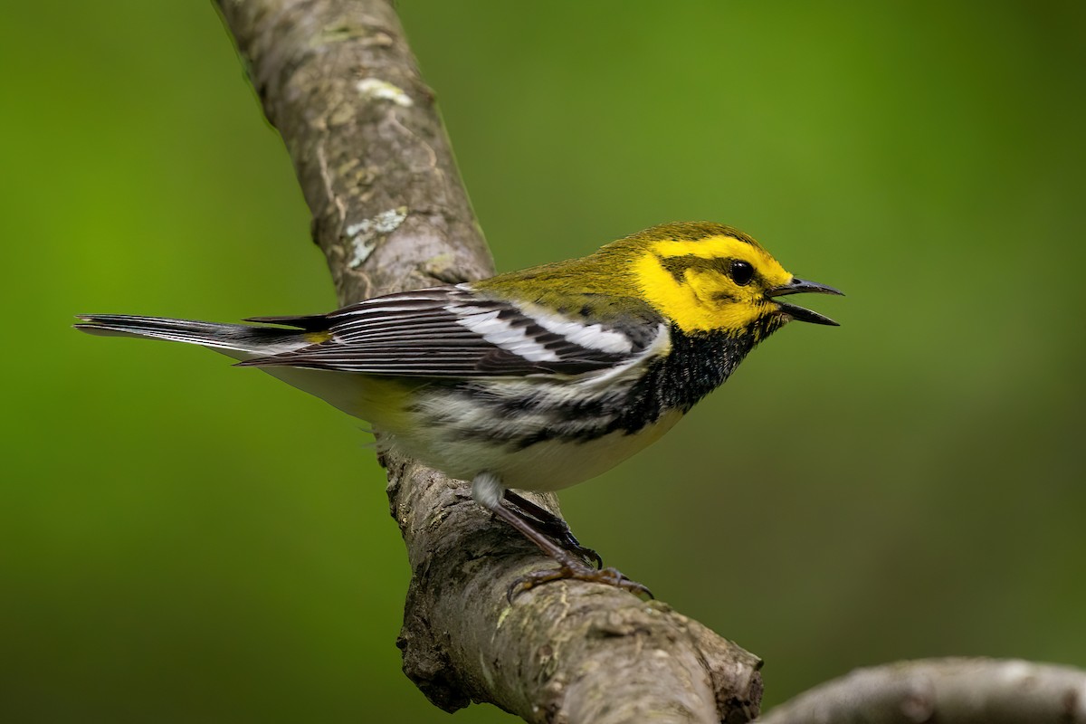
[[[728,233],[654,241],[634,274],[644,299],[684,332],[738,333],[775,314],[780,305],[767,292],[793,280],[753,240]]]

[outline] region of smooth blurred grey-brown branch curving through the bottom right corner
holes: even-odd
[[[760,724],[1082,724],[1086,672],[995,659],[860,669],[776,707]]]

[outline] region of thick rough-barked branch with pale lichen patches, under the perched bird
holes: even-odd
[[[218,0],[282,135],[339,300],[492,274],[438,116],[387,0]],[[392,515],[412,582],[404,671],[453,711],[489,701],[530,722],[747,721],[760,661],[661,602],[558,582],[465,483],[395,454]],[[556,510],[553,496],[536,498]]]

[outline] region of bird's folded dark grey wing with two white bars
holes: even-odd
[[[659,317],[632,301],[620,314],[608,307],[603,319],[588,323],[468,284],[438,287],[329,315],[248,319],[305,330],[314,344],[240,364],[412,377],[578,374],[630,360],[661,332]]]

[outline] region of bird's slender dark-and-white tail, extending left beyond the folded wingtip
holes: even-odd
[[[226,354],[240,352],[242,355],[230,356],[241,358],[281,354],[310,344],[304,333],[296,329],[131,315],[78,315],[76,318],[80,321],[75,328],[88,334],[199,344]]]

